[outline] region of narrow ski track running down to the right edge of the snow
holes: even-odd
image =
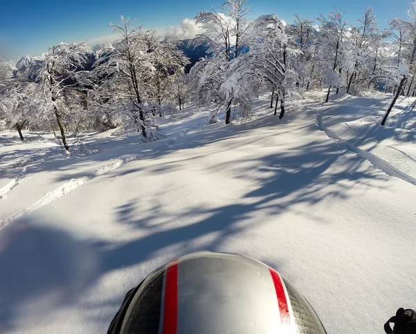
[[[330,128],[327,128],[326,126],[324,126],[322,122],[321,114],[316,115],[315,124],[320,131],[323,131],[324,133],[326,133],[326,135],[329,138],[331,138],[334,142],[336,142],[340,146],[347,149],[347,151],[356,153],[361,158],[369,161],[374,167],[381,170],[381,172],[384,172],[385,174],[389,176],[395,176],[397,178],[401,178],[401,180],[406,181],[412,185],[416,185],[416,179],[413,178],[412,176],[409,176],[408,174],[399,171],[399,169],[397,169],[396,167],[393,167],[388,162],[385,162],[385,160],[382,160],[381,158],[374,156],[372,153],[363,151],[362,149],[358,149],[358,147],[355,147],[354,145],[349,144],[349,142],[343,140],[343,138],[338,136]]]

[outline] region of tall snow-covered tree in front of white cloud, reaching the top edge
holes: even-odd
[[[243,83],[243,78],[245,80],[247,74],[243,75],[243,71],[247,69],[239,69],[243,62],[238,58],[248,29],[249,8],[246,2],[228,0],[223,3],[224,13],[203,11],[195,18],[202,33],[196,36],[193,44],[207,45],[209,56],[191,69],[191,79],[196,88],[196,100],[214,103],[218,107],[210,122],[216,122],[216,112],[225,108],[225,124],[229,124],[232,104],[241,101],[241,90],[237,85]]]

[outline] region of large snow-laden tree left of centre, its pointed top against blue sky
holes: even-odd
[[[155,31],[135,28],[121,17],[121,24],[110,24],[119,41],[98,51],[90,101],[109,119],[127,128],[134,127],[145,140],[156,137],[157,110],[163,112],[169,85],[184,73],[187,58],[177,49],[176,40],[164,40]]]

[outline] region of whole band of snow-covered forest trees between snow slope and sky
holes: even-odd
[[[187,48],[205,51],[192,67],[184,42],[121,16],[114,43],[53,45],[42,56],[0,63],[0,130],[53,131],[62,149],[80,131],[121,128],[157,140],[158,125],[186,103],[210,108],[209,122],[250,120],[252,103],[271,94],[271,112],[290,112],[305,92],[414,97],[416,3],[382,29],[372,8],[356,22],[334,9],[314,19],[275,14],[250,19],[248,0],[196,15],[202,33]],[[190,68],[191,67],[191,68]]]

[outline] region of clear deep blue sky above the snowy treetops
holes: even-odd
[[[101,42],[111,39],[109,22],[120,15],[137,19],[137,24],[161,31],[180,30],[183,19],[192,19],[210,6],[220,9],[224,0],[0,0],[0,56],[6,60],[28,54],[36,56],[58,42]],[[406,17],[410,0],[249,0],[252,17],[275,12],[291,22],[293,14],[315,19],[334,6],[345,10],[351,22],[372,6],[379,22],[386,26],[392,17]],[[185,22],[186,23],[186,22]],[[189,22],[188,22],[189,23]],[[187,28],[187,26],[182,26]],[[184,35],[187,36],[187,35]]]

